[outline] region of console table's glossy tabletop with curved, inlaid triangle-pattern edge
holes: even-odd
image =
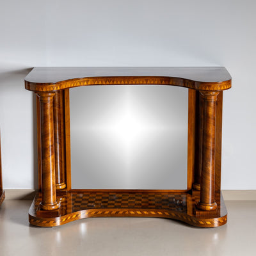
[[[104,84],[165,84],[196,90],[227,90],[231,87],[231,77],[225,67],[36,67],[25,78],[26,89],[32,91]]]

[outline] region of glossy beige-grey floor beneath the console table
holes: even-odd
[[[90,218],[29,225],[31,201],[0,207],[0,255],[256,255],[256,201],[226,201],[228,223],[195,228],[159,218]]]

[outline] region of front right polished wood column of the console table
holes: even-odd
[[[216,209],[214,199],[215,183],[215,121],[218,92],[200,92],[203,104],[202,125],[202,172],[200,180],[200,201],[196,207],[204,211]]]

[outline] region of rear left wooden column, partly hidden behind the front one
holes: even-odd
[[[65,156],[64,156],[64,116],[63,116],[63,91],[57,91],[53,98],[54,116],[54,153],[56,189],[66,188],[65,183]]]

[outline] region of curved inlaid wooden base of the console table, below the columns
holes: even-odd
[[[191,195],[192,194],[192,195]],[[35,196],[29,209],[29,223],[54,227],[91,217],[159,217],[184,221],[196,227],[219,227],[227,223],[227,210],[221,195],[216,211],[198,211],[198,191],[192,193],[81,190],[58,192],[60,209],[44,211]],[[218,195],[216,196],[218,198]]]

